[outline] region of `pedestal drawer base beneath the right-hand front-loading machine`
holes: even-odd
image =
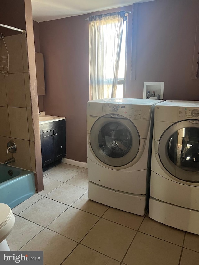
[[[165,225],[199,235],[199,211],[165,203],[150,197],[149,217]]]

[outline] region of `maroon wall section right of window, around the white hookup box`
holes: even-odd
[[[128,98],[142,98],[143,83],[164,82],[164,100],[199,100],[191,79],[198,0],[157,0],[138,5],[136,80]]]

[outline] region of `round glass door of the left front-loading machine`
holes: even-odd
[[[113,167],[130,163],[136,157],[140,144],[134,124],[123,116],[117,116],[100,117],[90,131],[94,154],[101,162]]]

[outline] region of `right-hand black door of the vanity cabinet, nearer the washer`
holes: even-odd
[[[66,155],[66,128],[54,130],[54,160]]]

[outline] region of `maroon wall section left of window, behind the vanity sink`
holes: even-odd
[[[126,9],[132,10],[132,6]],[[87,162],[89,31],[85,18],[88,16],[90,14],[39,23],[46,86],[44,111],[66,117],[67,158],[81,162]]]

